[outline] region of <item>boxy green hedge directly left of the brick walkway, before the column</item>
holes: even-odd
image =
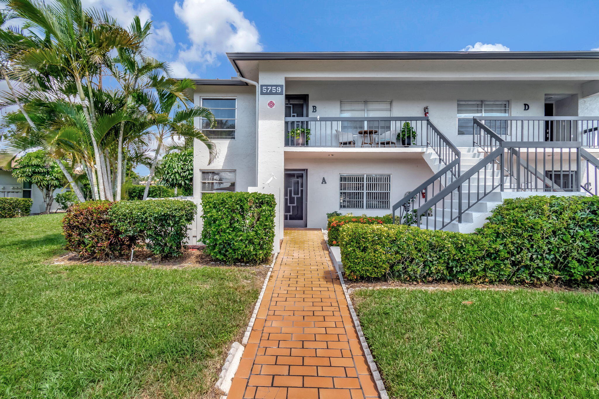
[[[273,194],[204,194],[205,254],[229,264],[267,260],[273,251],[275,208]]]

